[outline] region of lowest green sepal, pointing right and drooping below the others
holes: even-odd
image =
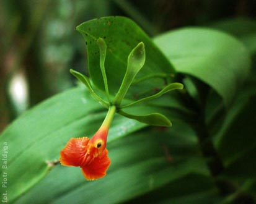
[[[160,113],[151,113],[144,116],[136,116],[133,114],[128,114],[121,110],[119,110],[117,113],[120,114],[121,116],[125,116],[130,119],[135,119],[136,121],[143,122],[149,125],[162,126],[162,127],[172,126],[172,122],[170,122],[170,120],[166,116]]]

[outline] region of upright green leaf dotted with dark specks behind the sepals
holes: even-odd
[[[130,19],[125,17],[104,17],[89,20],[79,25],[77,30],[82,33],[86,40],[92,82],[102,90],[104,90],[104,80],[100,72],[99,46],[96,42],[98,38],[103,38],[107,44],[105,70],[110,93],[117,93],[126,72],[128,55],[141,41],[144,43],[146,50],[146,62],[136,79],[159,74],[166,75],[165,78],[168,80],[171,79],[170,76],[174,77],[175,71],[168,59],[152,43],[148,35]],[[151,80],[144,80],[130,88],[128,94],[130,93],[131,96],[141,91],[161,88],[164,82],[162,78],[157,77],[151,78]]]

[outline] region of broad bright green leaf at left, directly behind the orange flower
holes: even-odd
[[[31,109],[2,132],[0,142],[8,147],[9,201],[47,174],[51,169],[48,161],[59,158],[69,138],[94,135],[106,113],[88,91],[78,87]],[[115,140],[141,127],[144,124],[117,115],[108,139]]]

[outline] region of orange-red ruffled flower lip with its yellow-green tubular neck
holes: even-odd
[[[114,113],[115,106],[111,106],[100,129],[91,139],[71,138],[60,152],[60,163],[64,166],[79,166],[89,181],[104,177],[110,166],[106,146],[108,129]]]

